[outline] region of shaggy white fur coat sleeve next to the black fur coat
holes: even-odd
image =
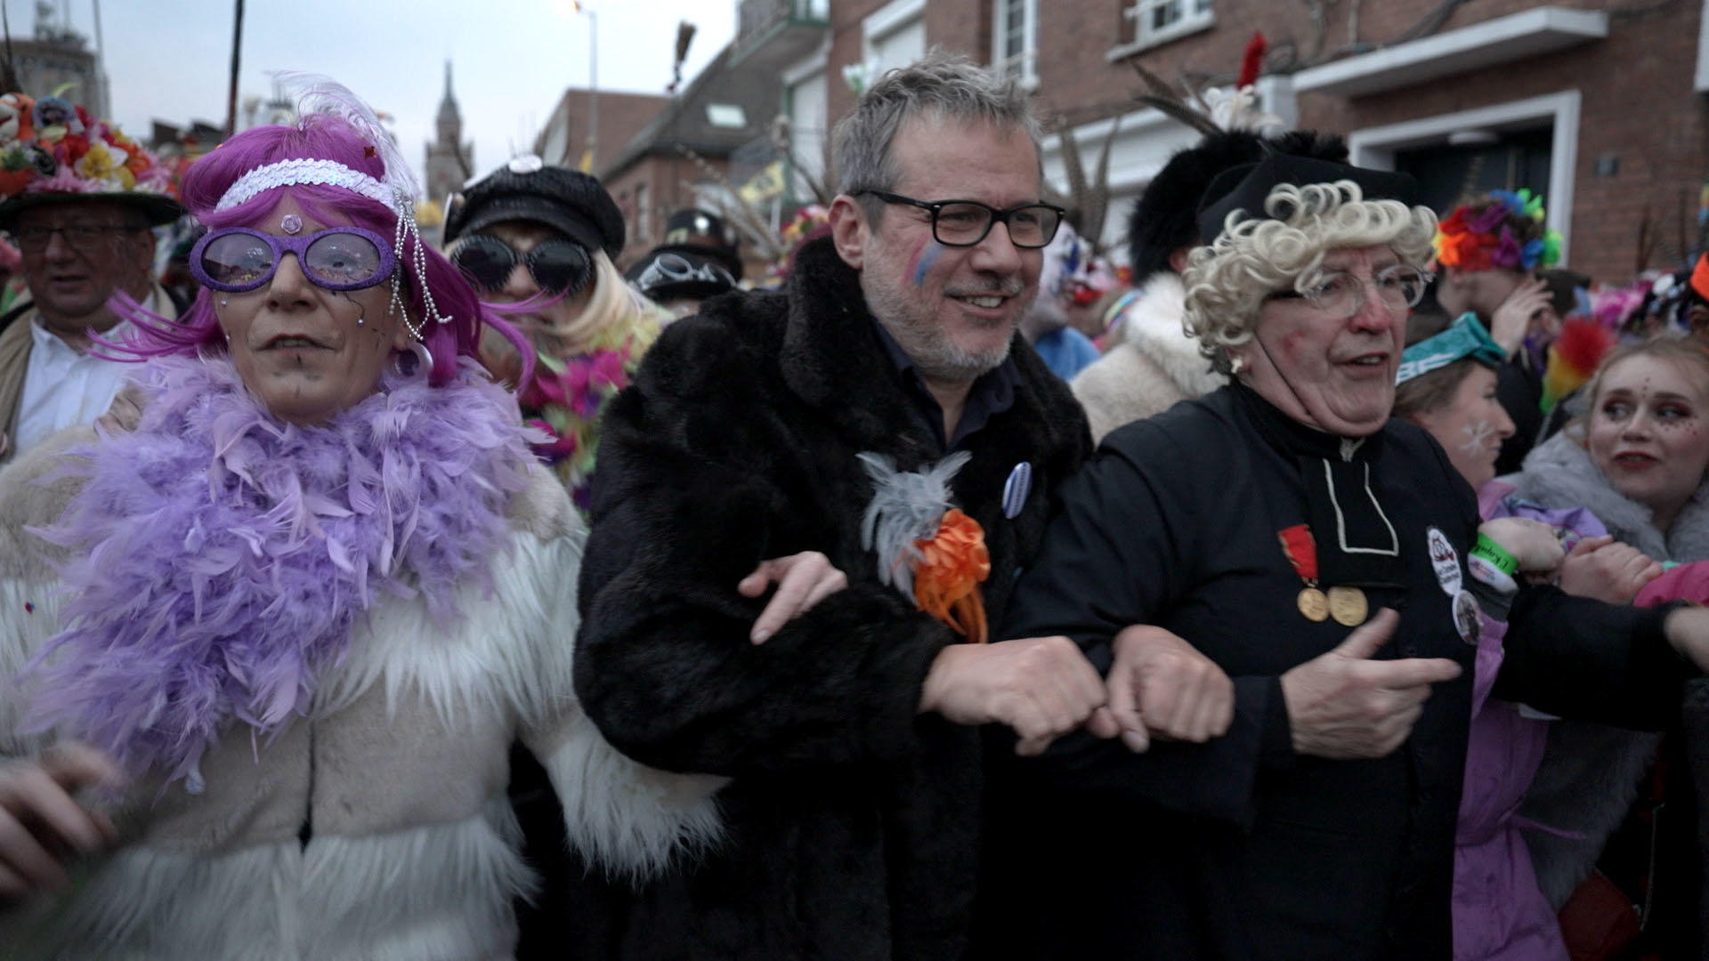
[[[547,482],[555,484],[543,470]],[[538,499],[533,499],[538,504]],[[719,834],[714,793],[726,778],[677,775],[648,768],[612,747],[576,701],[576,580],[586,530],[567,498],[552,501],[523,522],[540,537],[523,537],[523,557],[511,573],[531,578],[501,592],[540,598],[535,610],[514,610],[538,629],[531,663],[520,687],[523,740],[552,778],[569,843],[608,874],[646,877],[675,855],[692,855]],[[533,561],[533,563],[530,563]]]

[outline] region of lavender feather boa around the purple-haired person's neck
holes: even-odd
[[[226,359],[138,381],[137,431],[70,450],[60,475],[87,482],[34,530],[73,551],[73,597],[24,672],[27,723],[198,792],[220,728],[306,713],[378,598],[420,593],[446,619],[460,585],[490,590],[530,431],[472,361],[441,388],[388,376],[316,427],[273,419]]]

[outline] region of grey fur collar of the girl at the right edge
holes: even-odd
[[[1545,508],[1589,508],[1617,540],[1656,561],[1709,561],[1709,480],[1687,501],[1673,528],[1656,530],[1651,510],[1615,491],[1584,446],[1565,431],[1538,445],[1519,474],[1504,477],[1514,494]]]

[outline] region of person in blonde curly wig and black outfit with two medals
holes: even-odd
[[[1434,217],[1401,174],[1282,156],[1230,174],[1184,286],[1234,383],[1104,436],[1003,624],[1109,665],[1123,728],[1041,761],[1027,869],[1077,884],[1034,894],[1049,937],[1005,958],[1454,958],[1480,607],[1512,598],[1466,561],[1471,489],[1389,417]],[[1615,716],[1678,689],[1656,612],[1506,583],[1501,698]],[[1644,657],[1562,657],[1637,634]],[[1189,648],[1215,667],[1166,698],[1148,677]],[[1179,713],[1215,737],[1145,749]]]

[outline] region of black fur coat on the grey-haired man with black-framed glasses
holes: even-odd
[[[620,958],[954,959],[971,917],[979,737],[919,715],[957,640],[877,576],[860,545],[860,451],[902,470],[943,451],[831,243],[786,292],[731,294],[665,330],[608,407],[581,568],[576,689],[619,749],[731,778],[726,841],[586,923]],[[998,622],[1049,494],[1090,448],[1085,417],[1019,337],[1013,405],[967,436],[959,506],[984,528]],[[1003,484],[1029,462],[1013,520]],[[822,551],[849,587],[764,645],[737,581]]]

